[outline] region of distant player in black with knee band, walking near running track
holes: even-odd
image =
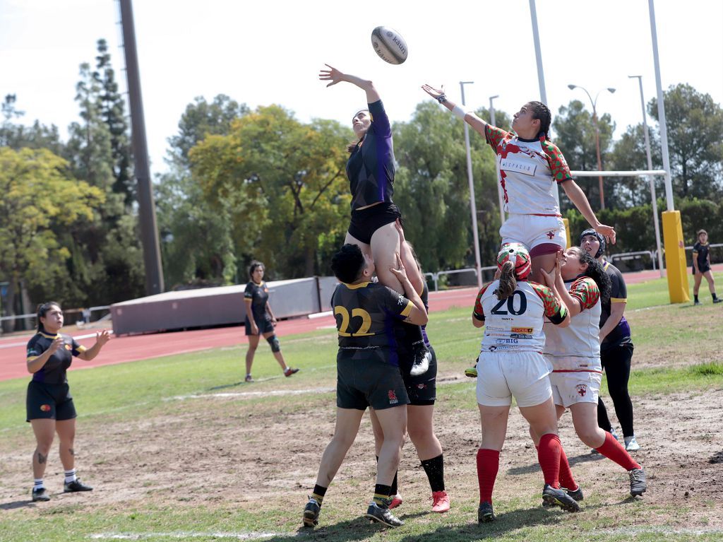
[[[281,344],[274,334],[276,327],[276,318],[271,311],[269,305],[269,289],[263,281],[265,266],[259,261],[252,261],[249,266],[249,276],[251,280],[246,284],[244,292],[244,305],[246,306],[246,335],[249,337],[249,350],[246,351],[246,381],[253,382],[251,376],[251,365],[254,363],[254,355],[259,346],[259,336],[263,335],[264,339],[271,347],[273,356],[281,365],[284,376],[291,376],[298,373],[299,369],[286,366],[281,353]]]

